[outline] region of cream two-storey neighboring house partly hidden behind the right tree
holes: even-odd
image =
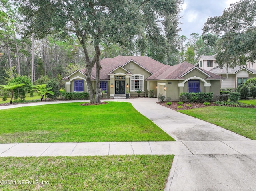
[[[198,63],[195,65],[226,78],[221,81],[221,88],[237,88],[240,84],[245,83],[246,80],[256,77],[256,63],[247,62],[244,66],[221,69],[218,63],[216,63],[216,55],[217,54],[212,56],[200,56]]]

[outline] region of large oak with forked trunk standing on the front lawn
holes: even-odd
[[[108,41],[130,49],[150,42],[153,45],[174,39],[178,32],[178,13],[182,0],[17,0],[24,14],[26,33],[36,38],[49,33],[75,34],[85,55],[86,81],[91,103],[100,103],[100,43]],[[94,46],[94,56],[88,53]],[[138,44],[138,43],[137,43]],[[170,45],[170,44],[169,44]],[[160,49],[160,50],[162,50]],[[92,68],[96,65],[96,90],[92,85]]]

